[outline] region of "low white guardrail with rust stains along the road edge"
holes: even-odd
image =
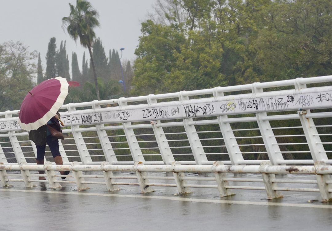
[[[20,171],[20,173],[7,173],[7,171]],[[45,174],[33,174],[30,171],[45,171]],[[60,175],[55,171],[71,171],[72,174]],[[85,174],[83,174],[83,172]],[[87,172],[102,174],[88,175]],[[136,175],[114,175],[113,172],[133,172]],[[147,173],[172,173],[173,176],[149,176]],[[211,176],[186,176],[185,173],[212,173]],[[226,173],[260,174],[261,178],[231,178]],[[276,174],[311,174],[316,180],[282,179],[276,178]],[[89,184],[104,184],[108,191],[119,190],[119,185],[137,185],[142,193],[155,191],[154,187],[176,187],[177,194],[190,193],[189,188],[217,188],[221,197],[230,196],[233,189],[265,190],[268,199],[282,197],[281,191],[319,192],[322,201],[332,200],[332,166],[324,162],[316,162],[314,166],[272,166],[270,162],[263,162],[256,166],[226,166],[217,161],[211,166],[205,165],[181,165],[173,162],[172,165],[143,165],[136,162],[134,165],[110,165],[103,162],[101,165],[80,165],[73,162],[71,165],[53,165],[46,162],[45,165],[8,165],[0,163],[0,180],[4,187],[9,187],[10,182],[24,182],[25,187],[36,186],[34,182],[47,182],[50,188],[61,187],[60,183],[76,184],[78,190],[86,190]],[[46,180],[33,179],[34,176],[46,176]],[[69,177],[73,180],[58,180],[57,177]],[[16,177],[16,178],[14,178]],[[17,179],[17,177],[20,177]],[[88,181],[87,178],[101,178],[103,181]],[[119,179],[134,179],[136,182],[119,182]],[[156,182],[150,182],[156,181]],[[161,182],[160,182],[161,181]],[[169,181],[173,181],[169,183]],[[174,182],[175,181],[175,182]],[[189,182],[195,181],[195,184]],[[202,182],[202,183],[197,183]],[[206,183],[206,182],[213,182]],[[262,186],[230,185],[229,182],[257,182]],[[290,184],[287,187],[279,187],[278,183]],[[298,188],[296,184],[317,185],[316,188]]]

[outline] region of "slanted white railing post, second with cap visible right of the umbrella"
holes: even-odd
[[[92,101],[92,109],[96,110],[100,108],[100,105],[97,104],[98,100]],[[109,163],[116,163],[118,161],[117,157],[115,156],[114,150],[112,145],[110,144],[110,139],[107,137],[107,133],[105,130],[101,128],[104,127],[104,124],[96,124],[96,131],[99,137],[100,144],[102,146],[105,159]]]

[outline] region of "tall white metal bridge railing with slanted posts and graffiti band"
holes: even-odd
[[[331,75],[70,103],[60,109],[61,156],[84,165],[331,164],[330,82]],[[37,155],[17,113],[0,112],[4,164]]]

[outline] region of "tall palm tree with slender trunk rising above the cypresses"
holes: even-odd
[[[76,7],[69,3],[70,14],[69,17],[62,18],[62,28],[67,27],[69,36],[76,42],[80,38],[81,45],[89,49],[93,75],[96,85],[97,99],[100,100],[99,88],[97,81],[97,74],[95,62],[92,56],[92,43],[96,38],[93,31],[95,27],[99,27],[98,12],[92,7],[90,2],[86,0],[76,0]]]

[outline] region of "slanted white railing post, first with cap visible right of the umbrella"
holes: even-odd
[[[68,112],[76,111],[75,106],[73,103],[68,104]],[[89,151],[87,151],[87,147],[85,145],[82,133],[78,131],[77,129],[79,128],[78,125],[72,126],[71,131],[76,143],[76,147],[78,150],[78,153],[81,157],[82,164],[86,165],[92,162],[91,156],[89,154]]]

